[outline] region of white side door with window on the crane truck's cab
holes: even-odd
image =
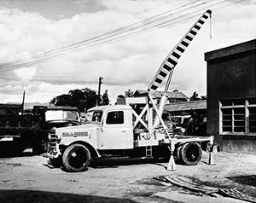
[[[127,148],[127,136],[129,136],[129,132],[130,129],[125,126],[125,112],[109,111],[103,120],[102,131],[99,139],[99,148]]]

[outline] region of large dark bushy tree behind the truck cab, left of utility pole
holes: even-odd
[[[55,96],[50,103],[55,106],[78,107],[81,112],[84,112],[84,109],[96,107],[96,101],[96,91],[84,88],[82,90],[70,90],[68,94]]]

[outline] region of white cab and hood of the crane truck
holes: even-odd
[[[58,128],[60,144],[87,142],[91,147],[104,149],[133,148],[132,109],[126,105],[91,108],[83,125]]]

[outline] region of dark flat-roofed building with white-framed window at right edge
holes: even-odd
[[[255,44],[205,53],[207,134],[226,152],[256,154]]]

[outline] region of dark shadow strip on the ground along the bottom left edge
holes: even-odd
[[[117,199],[102,196],[82,195],[82,194],[67,194],[67,193],[52,193],[35,190],[0,190],[1,203],[132,203],[135,202],[129,199]]]

